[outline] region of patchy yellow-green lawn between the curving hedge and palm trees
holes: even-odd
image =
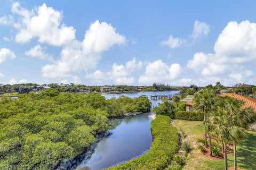
[[[187,164],[183,169],[188,170],[222,170],[224,160],[203,155],[197,149],[196,139],[203,138],[204,126],[201,121],[174,120],[173,126],[182,129],[186,134],[186,140],[194,147],[188,156]],[[228,155],[228,166],[233,166],[233,151]],[[256,169],[256,133],[249,132],[248,137],[237,144],[237,166],[244,170]]]

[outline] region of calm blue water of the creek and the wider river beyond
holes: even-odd
[[[129,97],[146,95],[150,99],[150,96],[153,94],[170,95],[177,92],[157,91],[140,92],[137,94],[104,94],[102,96],[108,99],[121,95]],[[152,101],[153,106],[156,106],[157,103],[159,103],[159,100]],[[76,169],[103,169],[144,154],[150,148],[152,142],[150,130],[151,119],[148,117],[150,114],[145,113],[112,120],[111,124],[114,126],[114,129],[110,130],[112,134],[102,138],[95,146],[92,156],[89,159],[83,160]]]

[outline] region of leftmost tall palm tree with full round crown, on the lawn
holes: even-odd
[[[213,88],[206,88],[202,91],[196,92],[193,99],[193,106],[197,112],[204,113],[204,122],[206,121],[207,115],[214,111],[215,103],[218,101],[218,94]],[[204,134],[204,145],[207,148],[207,131],[205,129]],[[211,149],[211,148],[210,148]]]

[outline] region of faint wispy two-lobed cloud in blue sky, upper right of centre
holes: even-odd
[[[170,48],[178,48],[183,45],[192,45],[196,40],[207,36],[210,32],[210,25],[205,22],[194,22],[193,33],[188,35],[187,39],[173,37],[170,35],[167,40],[163,40],[161,45],[169,46]]]

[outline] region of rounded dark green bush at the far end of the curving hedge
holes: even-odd
[[[163,101],[163,103],[158,104],[158,106],[153,108],[154,113],[157,115],[166,115],[170,116],[171,118],[174,118],[174,106],[173,103],[169,101]]]

